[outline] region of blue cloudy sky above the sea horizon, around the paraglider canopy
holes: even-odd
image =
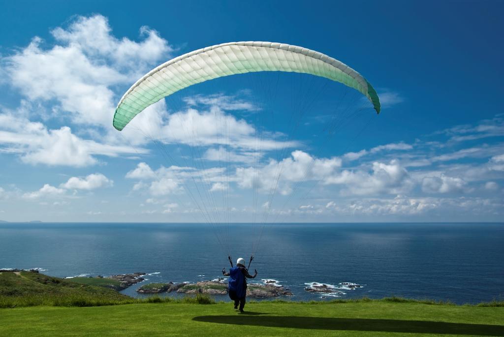
[[[499,2],[0,7],[0,220],[503,219]],[[377,89],[382,113],[323,79],[247,74],[113,129],[118,100],[150,69],[247,40],[345,62]],[[215,141],[217,120],[233,144]]]

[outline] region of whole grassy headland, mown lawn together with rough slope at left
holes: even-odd
[[[247,303],[245,310],[240,314],[231,303],[199,294],[179,300],[133,299],[39,273],[0,273],[0,336],[504,336],[502,302],[263,301]]]

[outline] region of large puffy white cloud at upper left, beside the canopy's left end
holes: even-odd
[[[135,81],[173,51],[147,27],[141,28],[141,42],[119,40],[101,15],[77,17],[51,35],[56,42],[52,48],[44,49],[35,37],[5,58],[4,68],[25,97],[56,101],[60,111],[80,124],[109,126],[117,98],[111,87]]]

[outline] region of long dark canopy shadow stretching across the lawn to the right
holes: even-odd
[[[504,336],[504,325],[449,323],[419,320],[246,315],[198,316],[194,317],[193,320],[220,324],[257,325],[298,329]]]

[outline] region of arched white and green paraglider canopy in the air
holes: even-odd
[[[193,84],[251,72],[295,72],[325,77],[365,95],[380,113],[373,87],[348,65],[303,47],[275,42],[229,42],[175,57],[138,80],[122,96],[113,125],[122,130],[149,105]]]

